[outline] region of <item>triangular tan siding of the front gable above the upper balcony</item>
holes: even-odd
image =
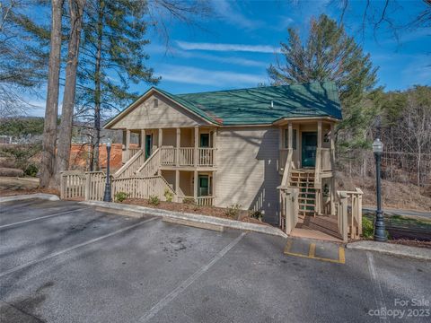
[[[154,99],[159,100],[154,108]],[[194,127],[207,124],[186,109],[154,94],[120,119],[112,129],[148,129],[163,127]]]

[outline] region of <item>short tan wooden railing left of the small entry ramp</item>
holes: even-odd
[[[279,224],[286,234],[295,229],[299,213],[299,188],[278,188],[279,191]]]

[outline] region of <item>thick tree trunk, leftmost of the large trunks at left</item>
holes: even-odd
[[[61,55],[61,17],[63,0],[51,1],[51,36],[48,65],[48,92],[43,127],[42,158],[40,164],[40,187],[53,183],[56,162],[58,87]]]

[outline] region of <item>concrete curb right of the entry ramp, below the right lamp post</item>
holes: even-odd
[[[382,252],[391,256],[408,257],[420,260],[431,260],[431,249],[403,246],[394,243],[364,240],[347,243],[346,248]]]

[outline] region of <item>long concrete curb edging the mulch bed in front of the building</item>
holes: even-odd
[[[217,218],[215,216],[201,215],[201,214],[187,214],[187,213],[154,209],[151,207],[145,207],[140,205],[123,205],[123,204],[113,203],[113,202],[84,201],[79,203],[84,205],[93,205],[93,206],[105,207],[105,208],[116,209],[121,211],[136,212],[140,214],[151,214],[151,215],[162,216],[167,218],[169,217],[172,219],[181,219],[185,221],[191,221],[194,223],[220,225],[225,228],[232,228],[232,229],[238,229],[243,231],[253,231],[253,232],[265,233],[265,234],[275,235],[278,237],[287,238],[287,235],[285,232],[274,227],[270,227],[267,225],[260,225],[256,223],[242,223],[240,221]]]

